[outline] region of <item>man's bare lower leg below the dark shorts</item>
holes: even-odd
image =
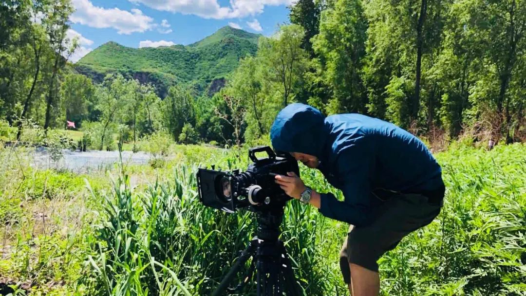
[[[380,294],[378,272],[353,263],[349,263],[349,268],[351,270],[351,283],[349,284],[351,296],[378,296]]]

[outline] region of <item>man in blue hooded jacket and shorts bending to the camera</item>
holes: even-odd
[[[344,201],[305,186],[293,172],[276,182],[322,215],[351,224],[340,268],[353,296],[378,295],[377,260],[407,234],[439,214],[444,196],[441,168],[409,132],[359,114],[323,116],[291,104],[270,130],[272,146],[319,169]]]

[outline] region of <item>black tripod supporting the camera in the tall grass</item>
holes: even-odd
[[[257,296],[304,295],[296,281],[294,271],[292,271],[287,250],[283,242],[278,239],[279,225],[283,219],[283,214],[283,207],[266,211],[256,210],[257,236],[242,251],[241,256],[228,271],[212,296],[221,296],[225,292],[241,291],[252,279],[254,267],[256,268]],[[252,257],[252,262],[244,281],[235,288],[229,288],[235,275],[250,257]]]

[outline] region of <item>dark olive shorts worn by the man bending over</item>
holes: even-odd
[[[407,234],[431,223],[441,206],[429,203],[423,195],[397,195],[378,207],[375,221],[368,226],[351,225],[340,252],[343,280],[350,283],[349,263],[378,272],[378,259]]]

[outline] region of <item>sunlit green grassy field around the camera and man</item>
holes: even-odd
[[[198,164],[246,168],[245,154],[180,146],[157,169],[89,175],[35,170],[24,155],[0,149],[0,289],[208,295],[254,233],[251,212],[206,208],[196,192]],[[436,157],[444,208],[382,258],[382,295],[524,295],[526,145],[485,151],[455,144]],[[316,171],[301,173],[330,190]],[[282,239],[306,295],[347,295],[338,268],[347,228],[289,202]]]

